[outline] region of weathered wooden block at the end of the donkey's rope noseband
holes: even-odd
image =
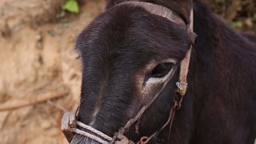
[[[68,143],[74,138],[74,133],[70,131],[70,128],[76,128],[76,114],[72,112],[67,112],[63,115],[61,121],[61,131],[63,132],[64,136],[67,138]]]

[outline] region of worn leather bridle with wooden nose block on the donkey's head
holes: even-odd
[[[169,134],[168,134],[168,140],[169,140],[170,133],[171,133],[171,126],[173,123],[175,112],[176,112],[176,110],[180,109],[181,103],[183,100],[183,96],[185,95],[187,87],[188,87],[186,79],[187,79],[187,74],[188,74],[189,60],[190,60],[192,45],[194,44],[195,39],[196,39],[196,34],[193,32],[193,8],[191,9],[191,13],[190,13],[190,23],[186,24],[183,21],[183,19],[180,18],[180,16],[177,15],[176,13],[174,13],[171,9],[168,9],[167,7],[164,7],[164,6],[160,6],[158,4],[152,4],[152,3],[140,2],[140,1],[127,1],[127,2],[117,4],[116,6],[121,6],[124,4],[140,6],[140,7],[143,7],[145,10],[147,10],[150,13],[167,18],[168,20],[178,24],[183,30],[186,30],[186,32],[190,36],[191,48],[186,53],[185,58],[181,61],[179,82],[176,83],[177,88],[176,88],[175,92],[180,95],[180,99],[176,100],[174,98],[174,104],[173,104],[173,107],[171,107],[171,111],[170,111],[168,120],[162,126],[162,128],[158,131],[158,132],[162,131],[170,123],[170,129],[169,129]],[[162,89],[161,89],[161,91],[162,91]],[[109,141],[109,144],[134,144],[132,141],[130,141],[124,135],[131,125],[133,125],[135,122],[138,122],[138,120],[140,119],[140,117],[144,113],[144,111],[152,104],[152,102],[157,97],[158,97],[158,94],[155,97],[153,97],[153,99],[151,99],[146,105],[144,105],[140,109],[140,111],[138,111],[137,115],[134,118],[131,118],[127,122],[127,124],[124,126],[124,128],[121,128],[119,130],[119,132],[115,133],[113,139],[111,141]],[[61,129],[69,143],[73,139],[74,131],[72,131],[72,128],[73,129],[76,128],[76,123],[77,123],[76,115],[74,113],[64,114]],[[150,135],[149,137],[141,137],[140,141],[138,141],[137,144],[146,144],[149,142],[149,140],[151,140],[153,137],[155,137],[155,135],[156,135],[156,132],[154,134]]]

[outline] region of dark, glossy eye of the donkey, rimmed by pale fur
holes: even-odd
[[[170,69],[172,67],[173,67],[173,63],[161,63],[161,64],[158,64],[154,68],[152,73],[150,74],[150,77],[162,77],[165,74],[167,74],[168,71],[170,71]]]

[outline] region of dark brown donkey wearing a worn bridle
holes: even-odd
[[[202,0],[143,0],[171,9],[193,31],[188,87],[172,127],[180,64],[192,44],[178,24],[143,7],[108,0],[77,37],[82,62],[78,120],[112,137],[157,98],[125,133],[149,144],[253,144],[256,137],[256,45],[220,20]],[[128,0],[129,1],[129,0]],[[140,0],[138,0],[140,1]],[[159,91],[159,85],[168,83]],[[172,129],[170,136],[169,130]],[[86,131],[83,128],[80,128]],[[98,144],[75,134],[71,144]]]

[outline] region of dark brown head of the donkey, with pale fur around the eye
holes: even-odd
[[[82,61],[79,121],[112,137],[158,95],[140,118],[138,134],[133,125],[125,136],[138,141],[159,130],[168,119],[179,65],[190,46],[179,25],[142,7],[107,8],[77,38]],[[162,133],[155,141],[164,143],[168,134]],[[78,134],[71,142],[88,143],[97,142]]]

